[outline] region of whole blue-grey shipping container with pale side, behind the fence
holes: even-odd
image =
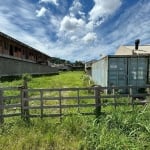
[[[92,64],[92,79],[101,86],[145,86],[150,81],[150,56],[109,55]]]

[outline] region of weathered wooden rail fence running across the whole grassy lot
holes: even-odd
[[[143,105],[149,102],[149,86],[146,92],[134,93],[141,87],[99,87],[28,89],[23,87],[0,88],[0,123],[4,118],[21,116],[24,120],[31,117],[62,117],[80,113],[98,117],[105,107]],[[143,88],[143,87],[142,87]],[[127,93],[121,93],[127,89]],[[109,94],[105,94],[105,90]],[[13,93],[13,95],[12,95]]]

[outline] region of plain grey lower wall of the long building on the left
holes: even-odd
[[[53,74],[58,73],[57,68],[50,66],[0,57],[0,76],[30,74]]]

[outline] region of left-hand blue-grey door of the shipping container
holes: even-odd
[[[109,86],[127,85],[127,58],[109,58]]]

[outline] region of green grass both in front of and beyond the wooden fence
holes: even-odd
[[[83,87],[82,72],[65,72],[55,76],[34,77],[29,88]],[[1,82],[0,87],[21,86],[22,80]],[[108,108],[109,109],[109,108]],[[149,150],[150,106],[127,107],[109,114],[32,119],[8,118],[0,126],[0,150]]]

